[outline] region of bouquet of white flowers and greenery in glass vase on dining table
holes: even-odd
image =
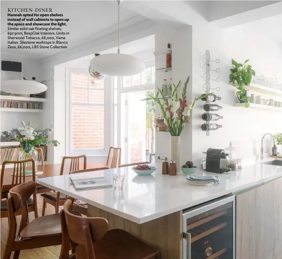
[[[20,143],[22,150],[19,151],[19,160],[34,159],[37,171],[38,153],[34,150],[38,146],[58,146],[57,140],[48,140],[48,135],[53,131],[52,128],[46,128],[43,131],[34,131],[30,127],[31,121],[26,125],[23,121],[22,127],[12,128],[11,131],[6,131],[1,134],[2,139],[7,141],[14,140]],[[25,173],[31,173],[31,163],[25,165]]]

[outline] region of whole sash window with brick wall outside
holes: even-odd
[[[104,155],[109,148],[105,79],[96,80],[88,71],[69,71],[69,147],[70,154]]]

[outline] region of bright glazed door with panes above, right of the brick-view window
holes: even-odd
[[[155,152],[155,107],[150,101],[140,101],[155,93],[155,66],[144,72],[114,78],[114,140],[122,148],[122,164],[149,161]]]

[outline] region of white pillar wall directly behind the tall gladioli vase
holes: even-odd
[[[179,97],[181,97],[184,82],[188,76],[192,76],[192,27],[185,26],[181,29],[165,29],[158,31],[155,35],[156,52],[164,51],[167,43],[172,48],[172,71],[160,72],[156,71],[156,90],[161,87],[163,79],[169,80],[177,85],[181,80],[179,87]],[[165,67],[165,55],[156,56],[156,69]],[[187,102],[192,101],[192,77],[187,87]],[[160,109],[156,107],[156,117],[161,115]],[[192,124],[188,123],[181,135],[181,156],[180,163],[185,164],[187,160],[192,159]],[[170,134],[164,132],[156,133],[156,157],[167,156],[170,158]]]

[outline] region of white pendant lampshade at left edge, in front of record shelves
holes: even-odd
[[[47,86],[31,80],[6,80],[1,83],[1,90],[10,93],[33,94],[46,91]]]

